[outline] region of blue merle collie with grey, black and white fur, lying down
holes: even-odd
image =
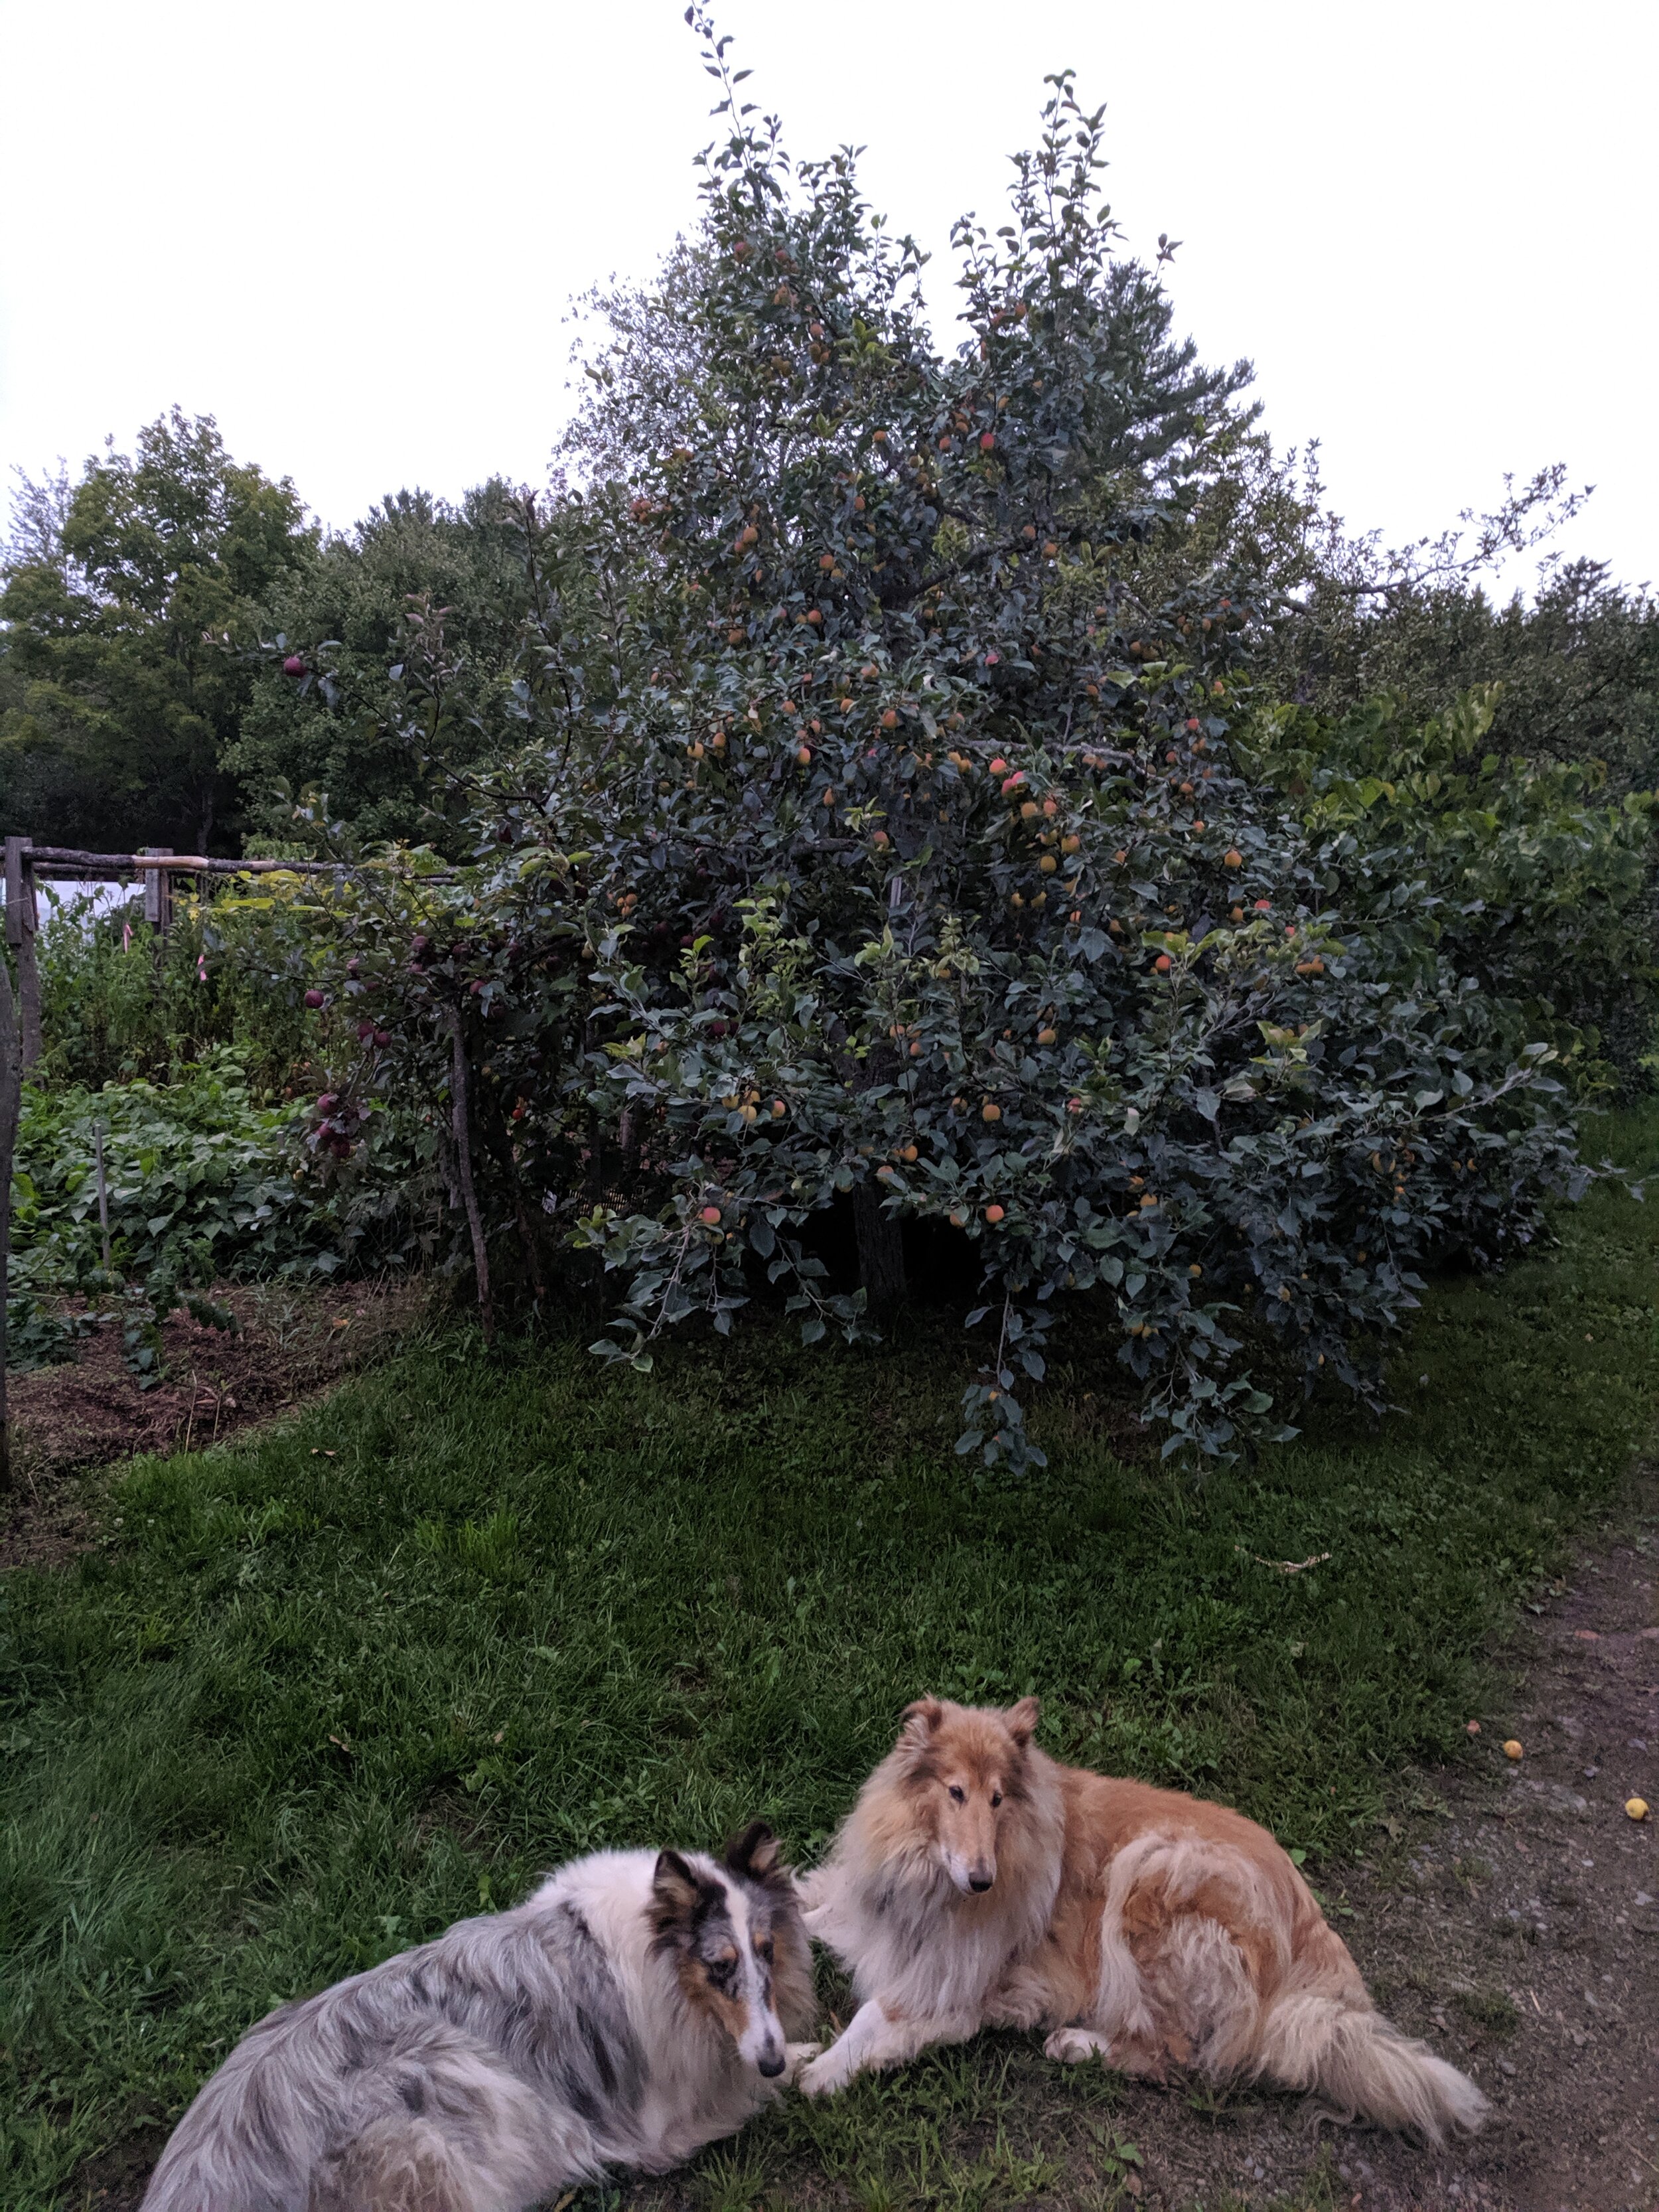
[[[757,1820],[723,1860],[602,1851],[285,2004],[179,2121],[144,2212],[520,2212],[732,2135],[816,2044]]]

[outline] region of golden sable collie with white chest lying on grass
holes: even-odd
[[[1371,2004],[1274,1838],[1221,1805],[1062,1767],[1006,1712],[925,1697],[865,1783],[805,1924],[860,2008],[807,2095],[984,2026],[1053,2059],[1312,2090],[1340,2119],[1440,2141],[1486,2104]]]

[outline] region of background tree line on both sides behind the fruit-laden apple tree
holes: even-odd
[[[619,345],[666,385],[692,387],[670,261],[664,290],[602,305]],[[1573,500],[1544,471],[1498,513],[1433,544],[1387,551],[1329,513],[1316,453],[1276,456],[1241,400],[1243,365],[1210,372],[1170,336],[1170,307],[1135,263],[1113,272],[1119,416],[1110,465],[1124,498],[1157,520],[1126,551],[1148,588],[1206,573],[1261,584],[1254,675],[1323,714],[1389,695],[1407,721],[1473,686],[1502,686],[1486,745],[1601,763],[1615,792],[1659,774],[1659,606],[1593,560],[1551,562],[1531,597],[1493,597],[1504,553],[1548,535]],[[630,403],[661,389],[628,380]],[[668,425],[659,425],[664,431]],[[593,407],[571,460],[604,482],[626,473],[637,425]],[[458,504],[387,493],[343,533],[307,518],[290,478],[237,462],[212,416],[177,407],[135,451],[111,447],[20,478],[0,566],[0,816],[42,843],[173,845],[239,854],[292,836],[292,801],[327,794],[367,843],[456,845],[469,770],[522,734],[513,668],[531,615],[520,560],[522,493],[500,478]],[[580,500],[555,491],[564,522]],[[283,639],[323,681],[283,675]],[[407,719],[398,677],[409,641],[442,664],[431,741]],[[453,781],[462,779],[462,783]]]

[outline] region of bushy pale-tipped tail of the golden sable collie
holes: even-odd
[[[1343,2121],[1369,2119],[1429,2143],[1486,2119],[1486,2099],[1469,2075],[1383,2013],[1343,1997],[1281,1997],[1263,2022],[1256,2062],[1261,2075],[1312,2090]]]

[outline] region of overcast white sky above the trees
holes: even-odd
[[[1402,540],[1564,460],[1571,546],[1659,580],[1657,0],[723,0],[792,148],[940,259],[1044,71],[1108,104],[1133,248],[1281,442]],[[345,526],[540,480],[566,305],[695,212],[672,0],[0,0],[0,462],[177,400]]]

